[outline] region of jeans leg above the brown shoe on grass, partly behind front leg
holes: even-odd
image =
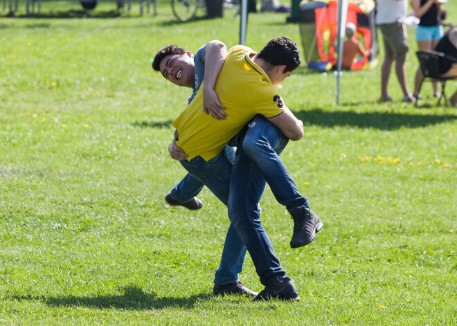
[[[206,185],[215,196],[227,205],[230,194],[232,162],[226,151],[222,151],[210,161],[197,156],[190,161],[181,161],[181,165],[201,184]],[[238,237],[232,224],[228,227],[222,250],[221,263],[215,273],[214,283],[226,285],[238,281],[238,274],[243,268],[246,246]]]

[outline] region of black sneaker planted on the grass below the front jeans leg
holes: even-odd
[[[253,301],[266,301],[270,299],[298,301],[300,300],[300,296],[298,295],[298,290],[290,278],[286,277],[282,280],[271,278],[268,280],[268,284],[265,289],[260,291],[256,298],[253,298]]]

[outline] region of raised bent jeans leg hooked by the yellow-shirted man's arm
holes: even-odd
[[[287,210],[298,206],[310,207],[279,157],[289,138],[264,116],[256,116],[248,126],[243,150],[265,177],[278,203],[286,206]]]

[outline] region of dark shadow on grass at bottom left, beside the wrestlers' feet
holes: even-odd
[[[40,300],[51,307],[89,307],[95,309],[150,310],[179,307],[192,309],[198,300],[210,298],[209,293],[200,293],[188,298],[159,298],[154,292],[145,293],[137,285],[121,289],[123,294],[105,296],[65,296],[46,298],[24,296],[16,300]]]

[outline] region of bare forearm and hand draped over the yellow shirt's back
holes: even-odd
[[[227,116],[224,112],[226,108],[219,102],[219,98],[217,98],[217,94],[214,91],[214,84],[224,64],[226,53],[227,48],[220,41],[210,41],[206,44],[203,111],[217,120],[223,120]]]

